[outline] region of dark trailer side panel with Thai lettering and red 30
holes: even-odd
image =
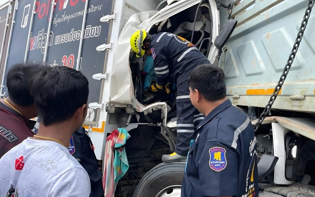
[[[43,61],[46,42],[48,42],[46,62],[51,66],[67,66],[80,70],[89,80],[88,103],[99,102],[102,82],[93,79],[92,76],[103,73],[106,67],[105,53],[96,51],[96,47],[109,43],[107,39],[110,35],[111,23],[102,23],[100,18],[112,13],[113,0],[57,0],[50,21],[52,1],[54,0],[36,2],[27,61]],[[86,1],[88,1],[88,9],[85,29],[81,32]],[[24,61],[33,3],[34,0],[19,1],[6,72],[14,64]],[[47,39],[49,23],[51,23],[51,30]],[[83,35],[82,46],[80,46],[81,35]],[[80,47],[82,51],[78,54]],[[81,57],[77,67],[78,56]],[[7,92],[5,84],[3,92]],[[97,110],[89,108],[85,124],[95,125],[98,121],[97,114]]]

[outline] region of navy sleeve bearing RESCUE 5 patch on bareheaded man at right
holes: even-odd
[[[205,196],[233,196],[238,192],[238,153],[220,142],[207,142],[197,152],[201,192]]]

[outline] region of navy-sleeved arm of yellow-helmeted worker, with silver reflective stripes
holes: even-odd
[[[151,53],[154,61],[154,71],[156,73],[157,84],[163,86],[166,84],[169,75],[169,62],[167,46],[163,43],[153,43]]]

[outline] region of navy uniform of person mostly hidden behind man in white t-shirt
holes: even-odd
[[[39,122],[34,126],[34,132],[38,131]],[[69,153],[77,159],[87,171],[91,183],[90,197],[104,196],[102,172],[97,163],[92,141],[83,127],[74,132],[68,146]]]

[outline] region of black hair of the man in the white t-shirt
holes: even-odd
[[[87,103],[89,82],[75,69],[50,67],[31,80],[31,95],[38,118],[47,126],[71,118],[79,107]]]

